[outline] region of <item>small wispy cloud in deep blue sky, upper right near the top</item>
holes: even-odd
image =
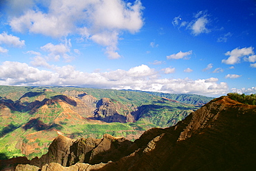
[[[196,19],[191,21],[187,26],[188,29],[192,30],[194,36],[210,32],[210,29],[206,28],[206,25],[210,22],[206,12],[200,11],[194,15],[194,18]]]

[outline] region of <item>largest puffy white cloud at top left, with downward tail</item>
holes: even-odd
[[[80,34],[106,47],[105,52],[111,59],[120,58],[116,52],[120,34],[125,31],[134,34],[143,26],[143,6],[139,0],[134,3],[121,0],[35,0],[30,4],[33,6],[27,6],[24,12],[10,17],[12,30],[50,37]],[[40,10],[39,6],[46,10]]]

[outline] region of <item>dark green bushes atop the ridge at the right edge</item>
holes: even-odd
[[[240,103],[244,103],[247,105],[256,105],[256,94],[238,94],[238,93],[228,93],[227,94],[230,99],[235,101],[239,101]]]

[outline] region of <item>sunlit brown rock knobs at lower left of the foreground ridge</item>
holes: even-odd
[[[75,163],[107,163],[117,161],[127,155],[127,149],[132,142],[125,138],[115,138],[104,134],[103,139],[69,139],[59,135],[51,143],[47,154],[40,159],[34,158],[30,165],[42,168],[47,163],[60,163],[63,166],[70,166]],[[129,152],[128,152],[129,153]]]

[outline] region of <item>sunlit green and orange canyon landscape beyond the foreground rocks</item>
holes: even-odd
[[[100,138],[107,133],[132,141],[149,128],[176,124],[207,99],[212,98],[77,87],[0,86],[0,157],[40,157],[57,134]]]

